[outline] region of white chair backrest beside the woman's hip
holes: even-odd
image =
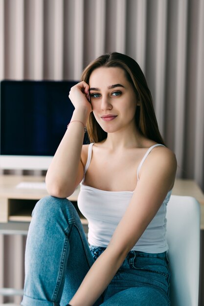
[[[171,306],[198,306],[200,204],[194,197],[171,196],[166,218]]]

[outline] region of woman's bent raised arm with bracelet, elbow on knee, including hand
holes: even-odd
[[[47,191],[54,197],[70,196],[84,174],[81,162],[84,126],[92,110],[88,101],[89,85],[78,83],[71,88],[69,98],[75,107],[71,118],[74,122],[68,126],[45,178]]]

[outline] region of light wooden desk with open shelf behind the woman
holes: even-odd
[[[20,189],[16,186],[20,182],[44,182],[43,176],[18,176],[0,175],[0,223],[9,221],[29,222],[31,212],[36,201],[47,196],[43,189]],[[77,197],[79,188],[69,197],[76,207],[82,224],[87,225],[85,219],[78,210]],[[195,197],[201,204],[201,229],[204,229],[204,194],[193,180],[177,179],[173,188],[173,195]]]

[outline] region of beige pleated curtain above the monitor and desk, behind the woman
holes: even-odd
[[[78,80],[110,51],[141,66],[178,177],[204,190],[204,0],[0,0],[0,80]]]

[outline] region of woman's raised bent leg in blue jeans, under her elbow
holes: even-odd
[[[26,241],[22,305],[65,306],[92,263],[73,204],[56,197],[41,199],[33,210]]]

